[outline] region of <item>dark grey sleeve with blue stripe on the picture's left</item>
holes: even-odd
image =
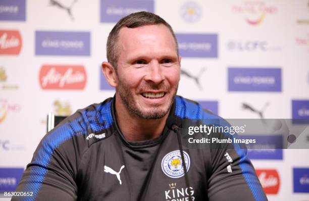
[[[83,147],[79,142],[84,137],[80,136],[82,131],[78,124],[74,126],[66,121],[47,133],[16,189],[32,196],[15,196],[12,200],[76,200],[75,178],[81,153],[78,147]]]

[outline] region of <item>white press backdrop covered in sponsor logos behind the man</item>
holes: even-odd
[[[108,34],[143,10],[176,33],[179,95],[224,118],[309,119],[308,0],[1,0],[1,191],[16,188],[47,113],[114,95],[100,71]],[[309,200],[309,149],[250,152],[269,200]]]

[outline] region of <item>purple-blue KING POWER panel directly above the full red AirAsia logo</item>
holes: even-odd
[[[90,32],[36,31],[35,55],[89,56]]]

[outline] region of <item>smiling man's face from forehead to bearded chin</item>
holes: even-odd
[[[124,27],[119,33],[117,94],[131,114],[159,119],[170,110],[180,79],[175,40],[164,25]]]

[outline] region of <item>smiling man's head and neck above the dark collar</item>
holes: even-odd
[[[118,23],[119,27],[125,20]],[[102,64],[108,82],[116,87],[119,126],[129,141],[159,137],[180,79],[175,35],[163,23],[144,25],[141,21],[119,27],[115,26],[108,40],[110,63]]]

